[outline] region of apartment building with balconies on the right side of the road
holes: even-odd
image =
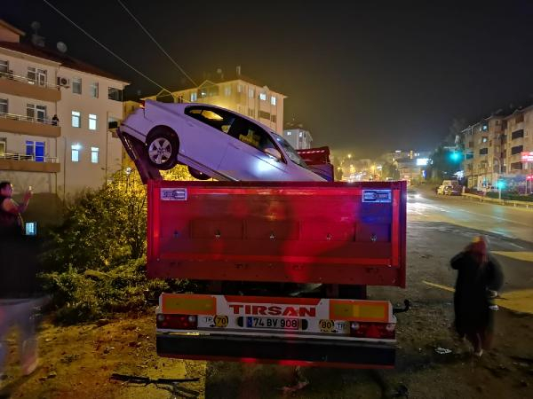
[[[533,151],[533,106],[501,111],[463,130],[465,177],[469,188],[480,191],[497,187],[505,180],[510,187],[525,189],[530,163],[521,153]]]

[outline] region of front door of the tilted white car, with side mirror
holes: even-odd
[[[274,140],[259,125],[235,115],[229,130],[228,145],[220,172],[239,180],[287,180],[285,160],[266,153],[268,148],[281,152]]]

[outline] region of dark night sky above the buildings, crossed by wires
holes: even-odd
[[[191,87],[115,0],[49,0],[111,50],[170,90]],[[454,118],[533,102],[533,2],[123,0],[196,82],[217,68],[280,91],[285,121],[356,157],[432,150]],[[438,4],[437,4],[438,3]],[[159,89],[42,1],[1,0],[0,18],[62,41],[68,54]]]

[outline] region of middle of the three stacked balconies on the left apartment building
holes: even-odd
[[[38,137],[60,137],[61,128],[52,119],[0,113],[0,131]]]

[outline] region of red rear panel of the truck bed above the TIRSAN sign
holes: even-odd
[[[405,182],[148,182],[151,278],[405,287]]]

